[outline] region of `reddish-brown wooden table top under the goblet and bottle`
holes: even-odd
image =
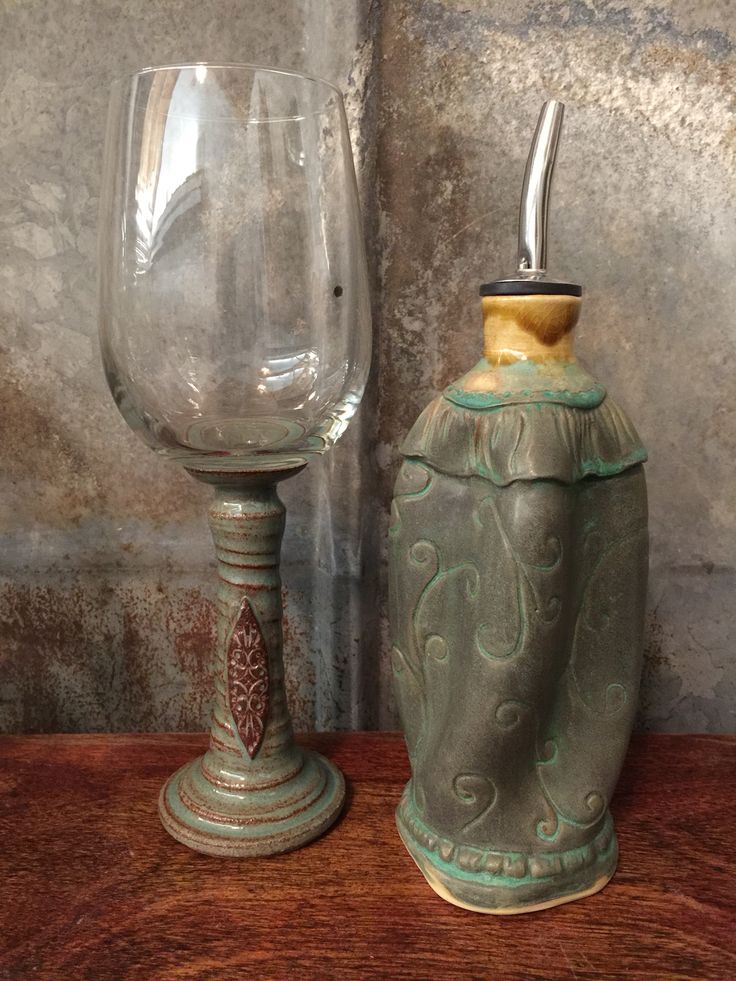
[[[208,858],[156,812],[204,735],[0,737],[0,978],[736,979],[736,737],[640,736],[595,896],[482,916],[426,885],[393,821],[396,734],[320,735],[340,822],[270,859]]]

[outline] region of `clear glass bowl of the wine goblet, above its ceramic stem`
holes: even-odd
[[[339,94],[227,66],[115,86],[101,339],[129,424],[195,464],[293,463],[344,430],[369,316]]]

